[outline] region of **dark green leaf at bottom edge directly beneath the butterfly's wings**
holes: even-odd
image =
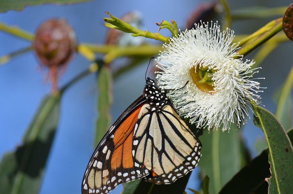
[[[156,185],[143,180],[130,181],[129,183],[123,184],[122,194],[183,193],[190,174],[191,172],[179,178],[175,183],[167,185]]]

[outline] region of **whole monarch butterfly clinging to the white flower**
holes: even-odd
[[[146,79],[143,95],[120,115],[93,153],[83,194],[105,194],[136,179],[170,184],[195,168],[202,145],[176,113],[167,91]]]

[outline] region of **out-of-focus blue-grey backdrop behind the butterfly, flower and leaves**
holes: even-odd
[[[107,28],[104,26],[104,11],[121,17],[129,11],[137,11],[142,18],[142,29],[157,32],[155,22],[175,20],[178,28],[185,30],[187,19],[203,2],[200,0],[184,1],[89,1],[74,5],[27,6],[22,11],[0,13],[0,21],[8,25],[34,33],[38,25],[52,17],[65,18],[71,25],[79,42],[102,44],[105,42]],[[288,6],[289,0],[246,0],[228,1],[230,9],[236,10],[247,6],[279,7]],[[268,23],[279,18],[233,20],[231,29],[237,34],[250,34]],[[161,34],[170,36],[168,30]],[[132,37],[135,39],[134,37]],[[144,40],[154,44],[159,41]],[[27,47],[30,42],[0,32],[0,56]],[[258,50],[247,56],[253,59]],[[98,55],[98,57],[102,55]],[[263,69],[256,77],[261,86],[267,87],[262,96],[265,108],[275,112],[274,92],[285,81],[292,67],[292,42],[279,45],[260,65]],[[111,64],[115,71],[125,59],[117,59]],[[148,61],[119,76],[113,82],[113,105],[111,108],[112,123],[137,97],[142,94],[145,84],[144,74]],[[66,71],[59,77],[59,86],[64,85],[74,76],[87,69],[89,62],[79,54],[69,62]],[[151,76],[154,77],[153,74]],[[28,128],[42,98],[50,92],[50,82],[46,80],[46,71],[40,67],[33,52],[13,58],[0,66],[0,157],[5,152],[13,151],[22,143],[22,137]],[[61,99],[61,110],[57,132],[45,168],[40,193],[80,193],[81,181],[88,161],[93,153],[93,139],[96,112],[96,75],[86,76],[64,93]],[[252,112],[251,112],[251,117]],[[287,129],[286,129],[287,130]],[[211,132],[213,133],[213,132]],[[257,139],[263,137],[263,132],[253,125],[252,119],[240,129],[244,143],[251,156],[258,154],[255,149]],[[209,135],[209,134],[205,134]],[[202,156],[204,157],[204,155]],[[233,160],[233,159],[231,159]],[[189,179],[188,188],[200,189],[200,168],[197,167]],[[120,193],[122,186],[112,191]],[[187,192],[190,192],[186,190]]]

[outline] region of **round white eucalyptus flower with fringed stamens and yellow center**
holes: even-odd
[[[178,89],[168,95],[181,116],[190,118],[197,127],[208,130],[230,129],[247,122],[249,103],[258,104],[259,83],[252,79],[253,60],[242,61],[231,44],[234,31],[214,23],[195,24],[177,38],[164,44],[158,57],[157,79],[162,88]],[[256,68],[258,69],[258,68]],[[258,72],[258,71],[257,71]],[[261,91],[262,92],[262,91]]]

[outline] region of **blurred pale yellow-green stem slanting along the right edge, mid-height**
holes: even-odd
[[[280,119],[283,109],[285,107],[285,102],[286,99],[291,92],[293,85],[293,67],[291,68],[289,75],[287,76],[287,79],[285,81],[285,84],[283,86],[282,92],[281,92],[281,97],[279,98],[278,105],[277,105],[277,110],[275,116]]]

